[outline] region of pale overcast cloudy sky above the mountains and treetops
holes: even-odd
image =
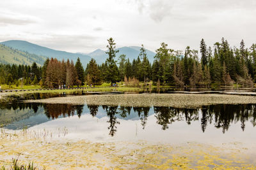
[[[1,0],[0,41],[21,39],[56,50],[88,53],[117,46],[175,50],[256,43],[255,0]]]

